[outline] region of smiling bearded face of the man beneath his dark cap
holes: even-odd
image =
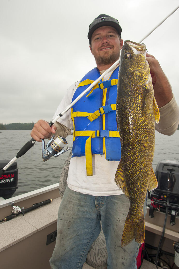
[[[92,34],[90,50],[94,55],[96,64],[113,64],[119,59],[123,40],[119,39],[115,28],[102,26]]]

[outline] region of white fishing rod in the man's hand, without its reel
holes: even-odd
[[[159,27],[166,19],[168,19],[177,9],[179,8],[179,6],[177,6],[176,9],[174,9],[164,20],[162,20],[162,22],[160,22],[152,31],[150,31],[150,33],[148,33],[141,41],[139,41],[138,43],[141,43],[145,38],[147,38],[153,31],[155,31],[157,29],[157,27]],[[98,79],[96,79],[89,87],[87,87],[86,90],[84,90],[75,100],[73,100],[73,102],[71,102],[71,104],[68,105],[68,107],[66,107],[61,113],[59,113],[55,119],[53,119],[51,122],[49,122],[50,127],[52,127],[52,125],[54,125],[54,123],[56,121],[58,121],[59,118],[61,118],[61,116],[63,116],[68,109],[70,109],[76,102],[78,102],[78,100],[83,97],[83,95],[85,95],[90,89],[92,89],[99,81],[100,79],[102,79],[109,71],[111,71],[116,65],[119,64],[119,59],[113,63],[113,65],[110,66],[110,68],[108,68]],[[30,148],[34,145],[35,140],[32,138],[30,139],[21,149],[20,151],[17,153],[16,157],[14,157],[4,168],[2,168],[0,170],[0,176],[2,176],[4,174],[4,172],[6,171],[6,169],[8,169],[8,167],[13,164],[13,162],[15,162],[17,160],[17,158],[21,157],[22,155],[24,155],[28,150],[30,150]]]

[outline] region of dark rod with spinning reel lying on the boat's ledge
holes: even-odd
[[[5,217],[4,219],[0,220],[0,222],[12,220],[12,218],[15,218],[16,216],[22,214],[24,216],[25,213],[30,212],[40,206],[44,206],[45,204],[49,204],[52,202],[52,199],[48,199],[45,201],[42,201],[40,203],[33,204],[33,206],[28,207],[24,209],[24,207],[20,208],[19,206],[14,206],[14,202],[12,202],[12,212],[11,215]]]

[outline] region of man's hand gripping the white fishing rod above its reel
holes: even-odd
[[[31,137],[38,142],[41,142],[41,139],[49,138],[52,133],[55,133],[57,130],[56,126],[50,127],[47,121],[40,119],[38,122],[34,124],[34,127],[30,133]]]

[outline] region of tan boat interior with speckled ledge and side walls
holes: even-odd
[[[28,197],[27,197],[28,196]],[[53,202],[43,207],[37,208],[24,216],[19,215],[11,221],[0,224],[0,260],[3,269],[50,269],[49,259],[55,247],[55,240],[46,245],[47,235],[57,229],[58,208],[61,202],[59,197],[58,184],[51,188],[45,187],[41,190],[26,194],[26,197],[16,196],[0,202],[0,219],[10,214],[12,201],[16,205],[25,208],[34,203],[52,199]],[[149,211],[149,208],[147,208]],[[151,246],[157,247],[162,234],[164,213],[155,212],[155,217],[150,219],[149,213],[146,214],[146,238],[145,241]],[[169,219],[169,220],[168,220]],[[170,225],[170,217],[167,218],[166,231],[164,234],[162,249],[174,253],[173,241],[178,242],[179,218],[176,217],[176,225]],[[173,230],[171,230],[173,229]],[[175,230],[174,230],[175,229]],[[19,259],[20,253],[20,259]],[[11,259],[9,259],[11,257]],[[33,259],[32,259],[33,257]],[[171,259],[171,263],[173,263]],[[24,266],[25,265],[25,266]],[[83,269],[92,269],[87,264]],[[143,260],[141,269],[155,269],[155,264]],[[173,269],[176,269],[174,265]],[[105,267],[97,269],[106,269]]]

